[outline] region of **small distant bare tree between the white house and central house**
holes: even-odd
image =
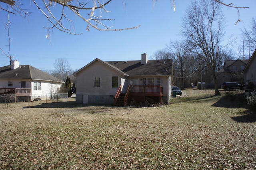
[[[68,62],[68,60],[66,58],[57,58],[53,65],[56,69],[56,75],[54,76],[58,77],[60,81],[65,81],[70,72],[72,71],[70,69],[70,63]]]

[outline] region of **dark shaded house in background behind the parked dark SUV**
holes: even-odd
[[[226,60],[223,69],[217,73],[218,86],[224,82],[235,81],[244,84],[244,76],[242,72],[248,63],[248,59],[244,60]]]

